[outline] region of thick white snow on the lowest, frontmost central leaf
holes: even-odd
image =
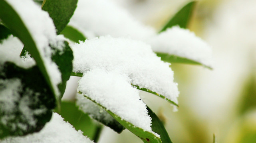
[[[151,130],[151,118],[139,91],[131,86],[131,79],[119,72],[94,69],[78,81],[78,92],[101,104],[123,120],[136,127]]]

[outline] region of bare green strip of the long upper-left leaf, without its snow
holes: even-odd
[[[26,45],[26,49],[36,61],[40,71],[54,93],[54,88],[48,75],[49,73],[46,70],[46,66],[40,56],[34,39],[30,35],[27,27],[24,25],[23,19],[20,18],[19,14],[5,0],[0,0],[0,19],[12,31],[12,33],[14,33],[14,35],[18,37],[24,45]]]

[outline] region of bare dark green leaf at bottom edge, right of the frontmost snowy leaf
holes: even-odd
[[[172,143],[166,129],[165,126],[163,125],[163,122],[161,122],[161,120],[157,117],[157,115],[147,106],[147,110],[148,110],[148,114],[149,116],[152,118],[152,131],[154,131],[155,133],[158,133],[161,137],[161,140],[163,143]]]

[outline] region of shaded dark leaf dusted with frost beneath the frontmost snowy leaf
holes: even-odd
[[[117,122],[111,115],[109,115],[107,111],[83,95],[77,93],[76,99],[76,104],[79,106],[79,109],[84,113],[87,113],[91,118],[108,126],[117,133],[121,133],[123,129],[125,129],[119,122]]]

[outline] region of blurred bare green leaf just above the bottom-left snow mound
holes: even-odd
[[[60,115],[65,121],[69,122],[78,131],[83,131],[83,135],[93,139],[97,124],[95,124],[91,118],[81,112],[75,102],[62,101]]]

